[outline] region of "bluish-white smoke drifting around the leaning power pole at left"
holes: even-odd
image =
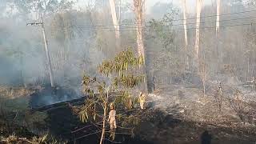
[[[95,69],[104,58],[95,46],[93,31],[72,27],[89,25],[88,19],[89,14],[76,11],[45,18],[54,81],[59,86],[80,83],[82,73]],[[2,18],[0,22],[2,85],[49,83],[42,28],[26,26],[28,22],[36,21],[22,16]]]

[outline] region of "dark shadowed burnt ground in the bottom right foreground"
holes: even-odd
[[[200,143],[208,131],[212,143],[255,143],[255,129],[235,129],[200,122],[188,122],[173,115],[159,114],[149,122],[142,122],[142,138],[154,143]]]

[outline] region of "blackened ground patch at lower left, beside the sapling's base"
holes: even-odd
[[[78,120],[77,115],[74,115],[70,107],[68,106],[59,106],[56,109],[50,109],[47,111],[49,117],[46,119],[47,126],[54,136],[66,139],[68,143],[88,143],[94,144],[98,143],[100,139],[101,133],[93,134],[95,131],[98,131],[98,128],[95,126],[91,126],[90,123],[82,123]],[[83,128],[86,127],[86,128]],[[82,129],[83,128],[83,129]],[[78,131],[76,131],[78,130]],[[76,132],[75,132],[76,131]],[[117,130],[118,133],[118,130]],[[82,138],[85,135],[91,134]],[[108,134],[106,134],[106,138],[108,138]],[[152,142],[148,142],[146,140],[142,140],[138,135],[134,138],[131,138],[127,135],[119,135],[116,134],[116,138],[114,142],[122,142],[122,143],[145,143],[150,144]],[[105,143],[111,143],[107,140]]]

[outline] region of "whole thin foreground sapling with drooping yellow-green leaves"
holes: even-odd
[[[74,110],[82,122],[102,123],[100,144],[109,132],[106,131],[106,117],[110,103],[113,102],[119,110],[118,119],[126,117],[125,119],[130,122],[138,121],[133,115],[125,114],[135,102],[134,97],[130,96],[131,90],[145,78],[142,74],[136,74],[140,65],[143,65],[142,57],[136,58],[131,50],[126,50],[117,54],[114,60],[104,61],[98,66],[98,72],[102,77],[90,78],[84,75],[82,86],[85,94],[89,95],[84,105],[75,107]],[[135,120],[130,120],[134,118]]]

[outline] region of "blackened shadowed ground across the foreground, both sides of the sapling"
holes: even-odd
[[[68,106],[60,106],[56,109],[48,110],[47,113],[49,114],[49,117],[46,119],[47,126],[55,136],[68,139],[69,143],[86,142],[93,144],[98,142],[100,133],[81,138],[86,134],[97,131],[98,129],[94,126],[86,127],[75,133],[72,132],[90,124],[79,122],[77,116],[72,114]],[[210,139],[212,143],[216,144],[254,144],[256,142],[254,137],[256,133],[252,129],[236,129],[206,123],[187,122],[174,118],[174,115],[165,114],[162,110],[150,108],[145,113],[142,116],[142,122],[140,122],[135,130],[135,138],[131,138],[130,135],[117,134],[115,142],[134,144],[195,144],[200,143],[202,137]],[[208,131],[208,134],[206,134],[206,131]],[[106,141],[106,143],[111,142]]]

